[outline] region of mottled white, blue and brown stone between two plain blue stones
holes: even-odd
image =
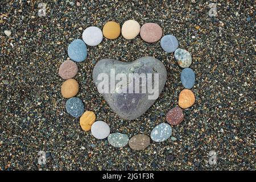
[[[181,68],[187,68],[192,63],[192,57],[190,53],[184,49],[176,49],[174,52],[174,57]]]

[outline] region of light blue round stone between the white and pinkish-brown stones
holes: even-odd
[[[68,56],[71,60],[81,62],[86,59],[87,47],[81,39],[74,40],[68,46]]]

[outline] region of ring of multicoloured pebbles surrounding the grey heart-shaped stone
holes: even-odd
[[[116,39],[121,33],[121,28],[118,23],[110,21],[107,22],[103,30],[101,31],[98,27],[88,27],[82,33],[81,39],[73,40],[68,46],[68,56],[71,60],[76,62],[81,62],[86,59],[87,47],[97,46],[102,42],[103,36],[107,39]],[[181,83],[185,89],[183,89],[179,94],[178,105],[182,109],[187,109],[195,103],[195,95],[189,89],[195,84],[195,73],[192,69],[188,68],[192,63],[191,54],[185,49],[178,48],[179,42],[174,35],[166,35],[162,37],[162,28],[156,23],[145,23],[140,27],[139,23],[135,20],[127,20],[122,26],[122,35],[125,39],[134,39],[138,34],[147,43],[154,43],[160,40],[160,46],[167,53],[174,52],[177,64],[183,69],[180,75]],[[63,97],[69,98],[66,103],[67,112],[73,117],[80,118],[80,126],[84,131],[91,131],[94,138],[105,139],[108,138],[108,142],[116,148],[125,147],[129,144],[130,148],[133,150],[144,150],[150,145],[150,138],[154,142],[163,142],[167,140],[172,135],[172,126],[179,125],[184,119],[183,110],[176,106],[169,110],[166,114],[167,123],[160,123],[155,126],[151,131],[150,137],[144,134],[134,135],[129,139],[129,136],[122,133],[112,133],[110,134],[110,127],[104,121],[96,121],[96,115],[93,111],[84,112],[84,104],[82,101],[74,97],[78,92],[78,83],[74,79],[71,79],[77,74],[77,66],[71,61],[64,61],[59,68],[59,75],[68,79],[64,82],[64,86],[61,88],[61,93]],[[71,84],[67,84],[71,82]],[[75,90],[73,85],[75,83]],[[66,86],[67,85],[67,86]],[[70,98],[72,97],[72,98]]]

